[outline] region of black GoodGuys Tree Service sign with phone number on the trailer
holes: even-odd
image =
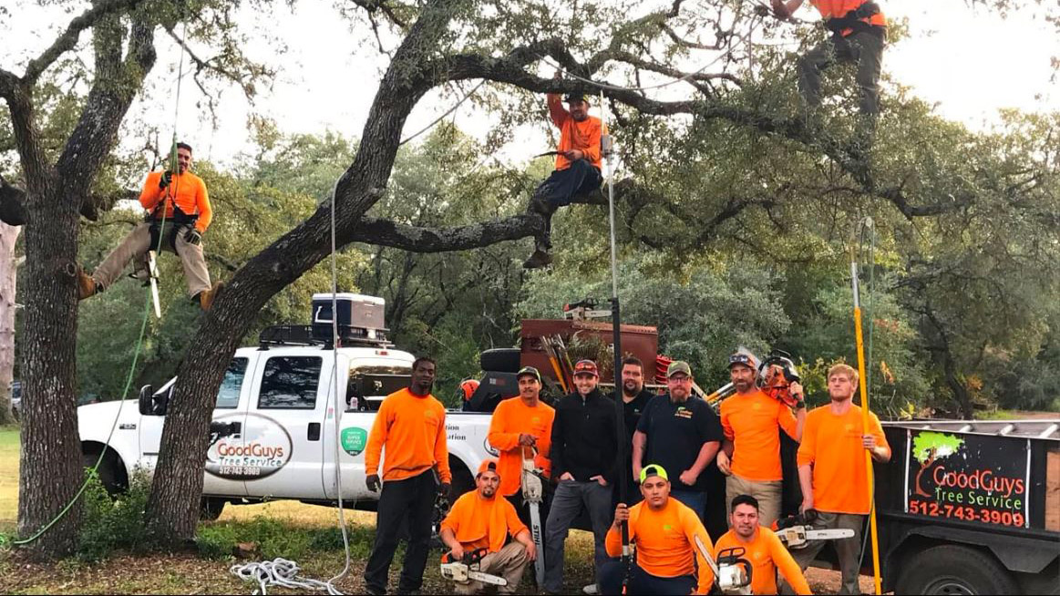
[[[907,511],[933,518],[1024,526],[1027,459],[1002,457],[995,438],[912,431]]]

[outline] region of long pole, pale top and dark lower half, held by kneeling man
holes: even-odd
[[[614,160],[614,145],[612,144],[611,136],[607,134],[607,120],[606,112],[604,110],[603,104],[603,91],[600,92],[600,115],[603,120],[602,130],[600,136],[600,144],[602,145],[601,154],[604,159],[607,160],[607,207],[610,211],[611,218],[611,310],[612,310],[612,328],[615,333],[615,368],[613,369],[613,376],[615,381],[615,437],[618,439],[618,450],[615,457],[618,458],[618,495],[619,503],[629,503],[629,494],[626,494],[626,474],[630,473],[625,468],[625,425],[623,424],[623,419],[625,418],[625,410],[622,406],[622,316],[619,311],[618,303],[618,252],[615,247],[615,160]],[[622,533],[622,564],[629,569],[630,564],[630,526],[628,523],[623,522],[621,524]],[[625,574],[629,577],[629,574]]]

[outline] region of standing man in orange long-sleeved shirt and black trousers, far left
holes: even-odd
[[[365,448],[365,484],[379,490],[379,458],[383,492],[375,516],[375,544],[365,566],[369,594],[387,593],[387,574],[398,549],[399,531],[408,520],[408,548],[398,591],[408,594],[423,584],[430,546],[430,514],[435,497],[448,495],[453,475],[445,443],[445,406],[430,395],[435,385],[435,361],[421,356],[412,363],[412,382],[407,389],[387,396],[375,415]],[[441,486],[435,479],[435,469]]]

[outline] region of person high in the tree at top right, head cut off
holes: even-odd
[[[772,0],[773,14],[791,17],[803,0]],[[832,36],[798,62],[799,91],[812,110],[820,105],[820,73],[836,62],[855,63],[861,112],[871,126],[880,112],[880,69],[887,20],[876,2],[864,0],[810,0]]]

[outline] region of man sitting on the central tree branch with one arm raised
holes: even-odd
[[[559,80],[556,71],[555,78]],[[600,119],[589,116],[589,103],[581,93],[568,93],[567,108],[563,109],[560,95],[548,94],[548,113],[560,128],[560,146],[556,148],[555,170],[537,187],[527,212],[538,213],[545,218],[544,231],[534,238],[534,251],[523,266],[528,269],[544,267],[552,262],[552,213],[573,197],[588,194],[600,188]],[[569,111],[568,111],[569,110]]]

